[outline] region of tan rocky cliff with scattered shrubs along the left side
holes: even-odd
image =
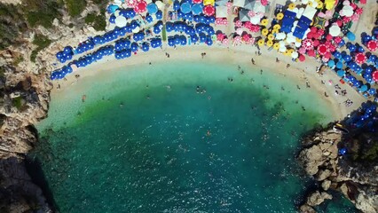
[[[52,89],[50,73],[61,67],[56,65],[55,53],[101,33],[84,21],[89,12],[100,11],[91,1],[75,19],[63,8],[57,9],[59,18],[53,19],[51,25],[41,22],[33,26],[27,20],[33,14],[22,7],[33,4],[38,10],[39,4],[48,3],[54,4],[0,1],[0,28],[9,27],[9,33],[0,39],[0,212],[52,212],[25,166],[26,154],[37,141],[34,124],[47,115]],[[49,28],[43,27],[43,23]],[[36,36],[48,43],[39,46]]]

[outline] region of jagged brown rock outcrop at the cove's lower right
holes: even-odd
[[[353,140],[354,144],[350,142]],[[342,135],[331,127],[303,139],[304,148],[297,157],[298,161],[308,175],[319,181],[321,188],[308,196],[301,212],[314,212],[312,207],[332,199],[326,193],[331,189],[343,193],[362,212],[378,212],[378,159],[358,161],[361,158],[358,154],[363,150],[361,147],[359,152],[350,147],[350,154],[338,154],[341,144],[365,146],[364,143],[378,143],[378,140],[375,135],[364,132]]]

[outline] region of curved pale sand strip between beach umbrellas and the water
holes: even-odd
[[[61,92],[69,89],[69,86],[74,83],[80,83],[81,79],[86,76],[96,75],[98,72],[104,72],[108,70],[116,70],[121,67],[130,67],[138,65],[148,65],[150,62],[152,66],[157,62],[169,62],[172,60],[184,60],[184,61],[199,61],[205,60],[209,63],[227,63],[242,66],[260,67],[261,69],[269,69],[284,77],[293,78],[294,83],[298,84],[301,88],[305,88],[306,82],[310,83],[311,89],[319,92],[321,97],[325,99],[330,106],[332,106],[335,119],[340,120],[349,114],[351,111],[358,108],[362,102],[366,101],[357,91],[353,90],[349,85],[343,85],[338,81],[340,78],[332,71],[327,71],[324,75],[319,76],[316,73],[316,67],[319,63],[315,59],[307,59],[304,63],[297,63],[291,61],[286,56],[277,54],[275,51],[268,51],[266,48],[261,49],[261,55],[256,55],[257,48],[250,45],[241,45],[235,47],[224,47],[214,45],[208,47],[205,45],[192,45],[186,47],[177,47],[177,49],[167,49],[163,46],[161,49],[155,49],[148,52],[138,52],[138,55],[133,55],[130,59],[114,59],[114,56],[98,61],[88,67],[79,68],[74,71],[73,74],[67,75],[67,81],[53,81],[54,89],[52,92],[59,97]],[[166,52],[169,53],[169,58],[166,56]],[[201,52],[206,52],[204,59],[201,59]],[[276,57],[280,59],[280,62],[276,62]],[[251,59],[254,59],[256,65],[251,63]],[[290,67],[287,68],[287,64]],[[255,68],[256,69],[256,68]],[[256,70],[259,70],[257,68]],[[75,75],[80,75],[79,78],[75,78]],[[334,83],[330,85],[329,80]],[[101,79],[98,77],[98,81]],[[326,82],[322,84],[321,81]],[[338,84],[342,90],[346,90],[348,94],[346,96],[335,95],[335,84]],[[60,89],[57,90],[58,85]],[[328,94],[328,98],[325,97],[325,92]],[[346,99],[353,101],[352,106],[345,106],[343,102]]]

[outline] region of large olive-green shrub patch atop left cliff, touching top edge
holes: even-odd
[[[25,0],[23,11],[27,12],[27,20],[31,27],[38,25],[51,28],[52,21],[60,18],[59,10],[63,8],[61,0]]]

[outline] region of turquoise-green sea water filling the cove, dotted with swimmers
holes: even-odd
[[[295,212],[311,182],[298,139],[333,116],[292,81],[188,62],[102,71],[52,96],[35,156],[60,212]]]

